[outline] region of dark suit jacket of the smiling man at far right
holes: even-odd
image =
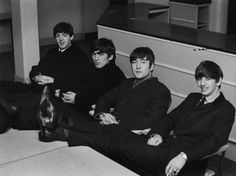
[[[149,132],[164,137],[160,146],[169,145],[176,154],[185,152],[187,162],[217,151],[228,141],[234,123],[235,108],[222,93],[214,102],[196,107],[200,99],[200,93],[191,93]],[[170,130],[174,130],[172,137]]]

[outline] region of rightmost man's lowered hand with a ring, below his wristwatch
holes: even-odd
[[[179,171],[184,167],[187,159],[183,158],[183,156],[178,154],[174,157],[168,165],[166,166],[165,173],[167,176],[175,176],[179,173]]]

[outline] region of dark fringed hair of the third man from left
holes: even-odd
[[[149,60],[150,64],[154,64],[155,55],[149,47],[135,48],[130,54],[129,61],[130,63],[132,63],[132,61],[136,60],[137,58],[144,58],[144,57],[146,57],[147,60]]]

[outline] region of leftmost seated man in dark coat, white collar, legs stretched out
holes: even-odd
[[[63,86],[89,63],[89,57],[73,42],[71,24],[61,22],[53,28],[57,46],[50,49],[39,63],[32,66],[29,84],[0,81],[0,133],[9,126],[9,116],[18,112],[18,106],[37,106],[45,85]],[[9,104],[6,104],[8,100]]]

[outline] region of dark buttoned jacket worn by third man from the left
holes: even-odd
[[[128,130],[151,128],[165,117],[171,97],[169,89],[151,78],[133,88],[134,78],[122,82],[115,89],[102,96],[95,109],[95,115],[115,108],[114,116],[120,126]]]

